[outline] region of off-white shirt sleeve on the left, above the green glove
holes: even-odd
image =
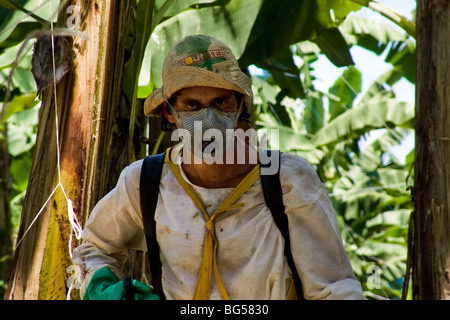
[[[72,262],[80,268],[84,292],[95,271],[108,267],[119,278],[128,250],[146,250],[140,210],[139,181],[142,161],[120,174],[117,185],[94,207],[75,248]]]

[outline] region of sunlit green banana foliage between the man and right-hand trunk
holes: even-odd
[[[414,105],[396,99],[392,86],[414,74],[414,64],[399,64],[401,59],[389,57],[399,54],[409,59],[414,46],[390,27],[362,28],[367,25],[363,19],[349,17],[339,28],[351,45],[378,55],[387,51],[392,69],[367,92],[361,92],[361,72],[354,66],[345,68],[328,92],[317,91],[311,62],[323,53],[310,43],[296,44],[301,70],[291,74],[301,75],[305,98],[296,102],[285,98],[280,103],[284,82],[268,69],[265,79],[254,77],[257,125],[260,130],[279,129],[278,139],[269,139],[271,147],[297,153],[316,165],[366,297],[399,299],[413,210],[407,189],[411,159],[401,164],[390,149],[413,132]],[[282,116],[286,113],[290,116]],[[361,148],[359,141],[374,130],[384,133]]]

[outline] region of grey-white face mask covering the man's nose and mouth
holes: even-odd
[[[203,142],[210,141],[207,138],[214,137],[214,141],[211,142],[213,148],[208,146],[208,150],[216,154],[217,152],[223,153],[230,147],[234,141],[234,135],[227,135],[227,130],[234,132],[238,123],[242,102],[239,110],[234,112],[220,111],[214,107],[205,107],[197,111],[175,111],[170,103],[168,105],[175,115],[175,121],[178,126],[187,130],[190,135],[190,141],[184,141],[185,145],[191,152],[200,152],[197,153],[200,155],[204,152]]]

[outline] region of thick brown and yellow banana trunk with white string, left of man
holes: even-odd
[[[68,199],[83,224],[115,182],[111,164],[115,172],[128,161],[128,128],[122,132],[116,116],[130,3],[92,0],[69,5],[75,5],[72,14],[79,14],[81,31],[89,38],[70,39],[72,68],[58,83],[56,94],[53,84],[43,93],[5,299],[66,299],[72,230]],[[67,8],[61,12],[58,24],[65,27],[70,15]],[[77,244],[73,240],[72,247]]]

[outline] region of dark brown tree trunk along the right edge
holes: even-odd
[[[450,0],[417,1],[413,294],[450,299]]]

